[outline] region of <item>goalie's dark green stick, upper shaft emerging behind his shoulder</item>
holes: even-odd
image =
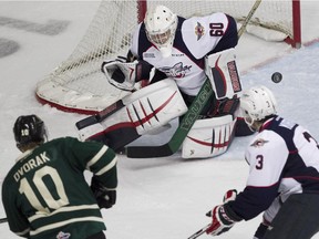
[[[261,0],[256,0],[254,6],[251,7],[244,23],[238,30],[238,40],[240,39],[248,22],[253,18],[254,13],[256,12],[260,3],[261,3]],[[192,126],[195,124],[195,121],[197,119],[202,108],[204,107],[205,103],[207,102],[208,97],[212,94],[213,94],[213,89],[212,89],[209,79],[207,79],[204,85],[202,86],[198,95],[196,96],[195,101],[191,105],[189,110],[183,117],[182,123],[178,125],[176,132],[174,133],[173,137],[171,138],[168,143],[161,145],[161,146],[131,146],[131,147],[125,148],[126,156],[132,157],[132,158],[165,157],[165,156],[171,156],[174,153],[176,153],[178,148],[181,147],[181,145],[183,144],[184,139],[186,138],[187,133],[191,131]],[[202,97],[205,95],[207,96],[207,98],[204,101],[204,98]],[[196,111],[198,110],[196,107],[200,107],[200,111]]]

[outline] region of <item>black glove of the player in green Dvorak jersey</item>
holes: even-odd
[[[116,202],[116,189],[106,188],[95,176],[91,180],[91,190],[100,208],[111,208]]]

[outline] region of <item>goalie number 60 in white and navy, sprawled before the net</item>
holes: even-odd
[[[207,32],[206,32],[207,31]],[[132,93],[119,104],[78,122],[83,141],[100,141],[119,150],[174,118],[183,119],[204,82],[209,97],[196,113],[183,141],[183,158],[205,158],[227,150],[238,125],[241,84],[236,66],[235,20],[224,13],[184,19],[157,6],[146,12],[126,58],[105,60],[102,72],[117,89]],[[141,81],[148,85],[135,90]],[[239,132],[239,133],[238,133]]]

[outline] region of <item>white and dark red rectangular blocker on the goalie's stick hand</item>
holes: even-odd
[[[241,92],[235,49],[227,49],[205,58],[205,73],[210,80],[216,98],[231,98]]]

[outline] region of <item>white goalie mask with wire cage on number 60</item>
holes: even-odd
[[[169,56],[177,28],[177,15],[165,6],[157,6],[146,12],[144,23],[147,39],[158,48],[164,58]]]

